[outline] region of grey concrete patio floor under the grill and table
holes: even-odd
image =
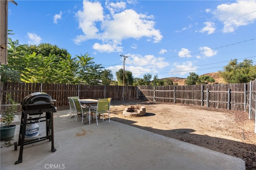
[[[20,125],[10,141],[1,141],[1,170],[245,170],[234,156],[151,133],[115,121],[81,123],[70,119],[69,110],[54,113],[54,146],[48,140],[25,145],[18,160]],[[86,121],[88,119],[85,119]],[[45,136],[45,122],[39,133]]]

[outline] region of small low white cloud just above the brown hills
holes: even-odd
[[[197,66],[193,66],[192,61],[186,61],[182,64],[180,63],[174,63],[174,68],[171,69],[169,74],[178,74],[178,75],[184,75],[188,74],[189,72],[195,72],[198,68]]]

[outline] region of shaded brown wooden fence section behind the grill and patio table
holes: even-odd
[[[34,92],[46,92],[55,99],[55,106],[68,106],[69,96],[79,98],[112,98],[112,100],[135,100],[138,98],[137,86],[102,86],[47,83],[13,83],[1,84],[1,106],[6,107],[6,94],[11,94],[13,100],[20,104],[23,98]]]

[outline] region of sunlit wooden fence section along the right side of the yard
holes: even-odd
[[[138,86],[138,98],[218,109],[239,110],[255,121],[256,80],[246,84]]]

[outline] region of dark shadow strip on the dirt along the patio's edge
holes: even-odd
[[[155,115],[154,113],[147,113],[149,115]],[[127,119],[122,119],[119,117],[112,117],[110,120],[117,121],[120,123],[125,123],[127,125],[137,127],[140,129],[144,129],[146,131],[150,131],[153,133],[157,133],[159,135],[164,135],[166,137],[170,137],[173,139],[177,139],[180,141],[184,141],[187,143],[191,143],[200,147],[204,147],[207,149],[215,150],[218,152],[222,152],[224,154],[228,154],[231,156],[235,156],[241,158],[246,162],[247,170],[256,170],[256,146],[242,143],[238,141],[222,139],[218,137],[211,137],[208,135],[198,135],[194,129],[172,129],[172,130],[162,130],[162,129],[154,129],[152,127],[144,127],[136,125],[136,121],[130,121]]]

